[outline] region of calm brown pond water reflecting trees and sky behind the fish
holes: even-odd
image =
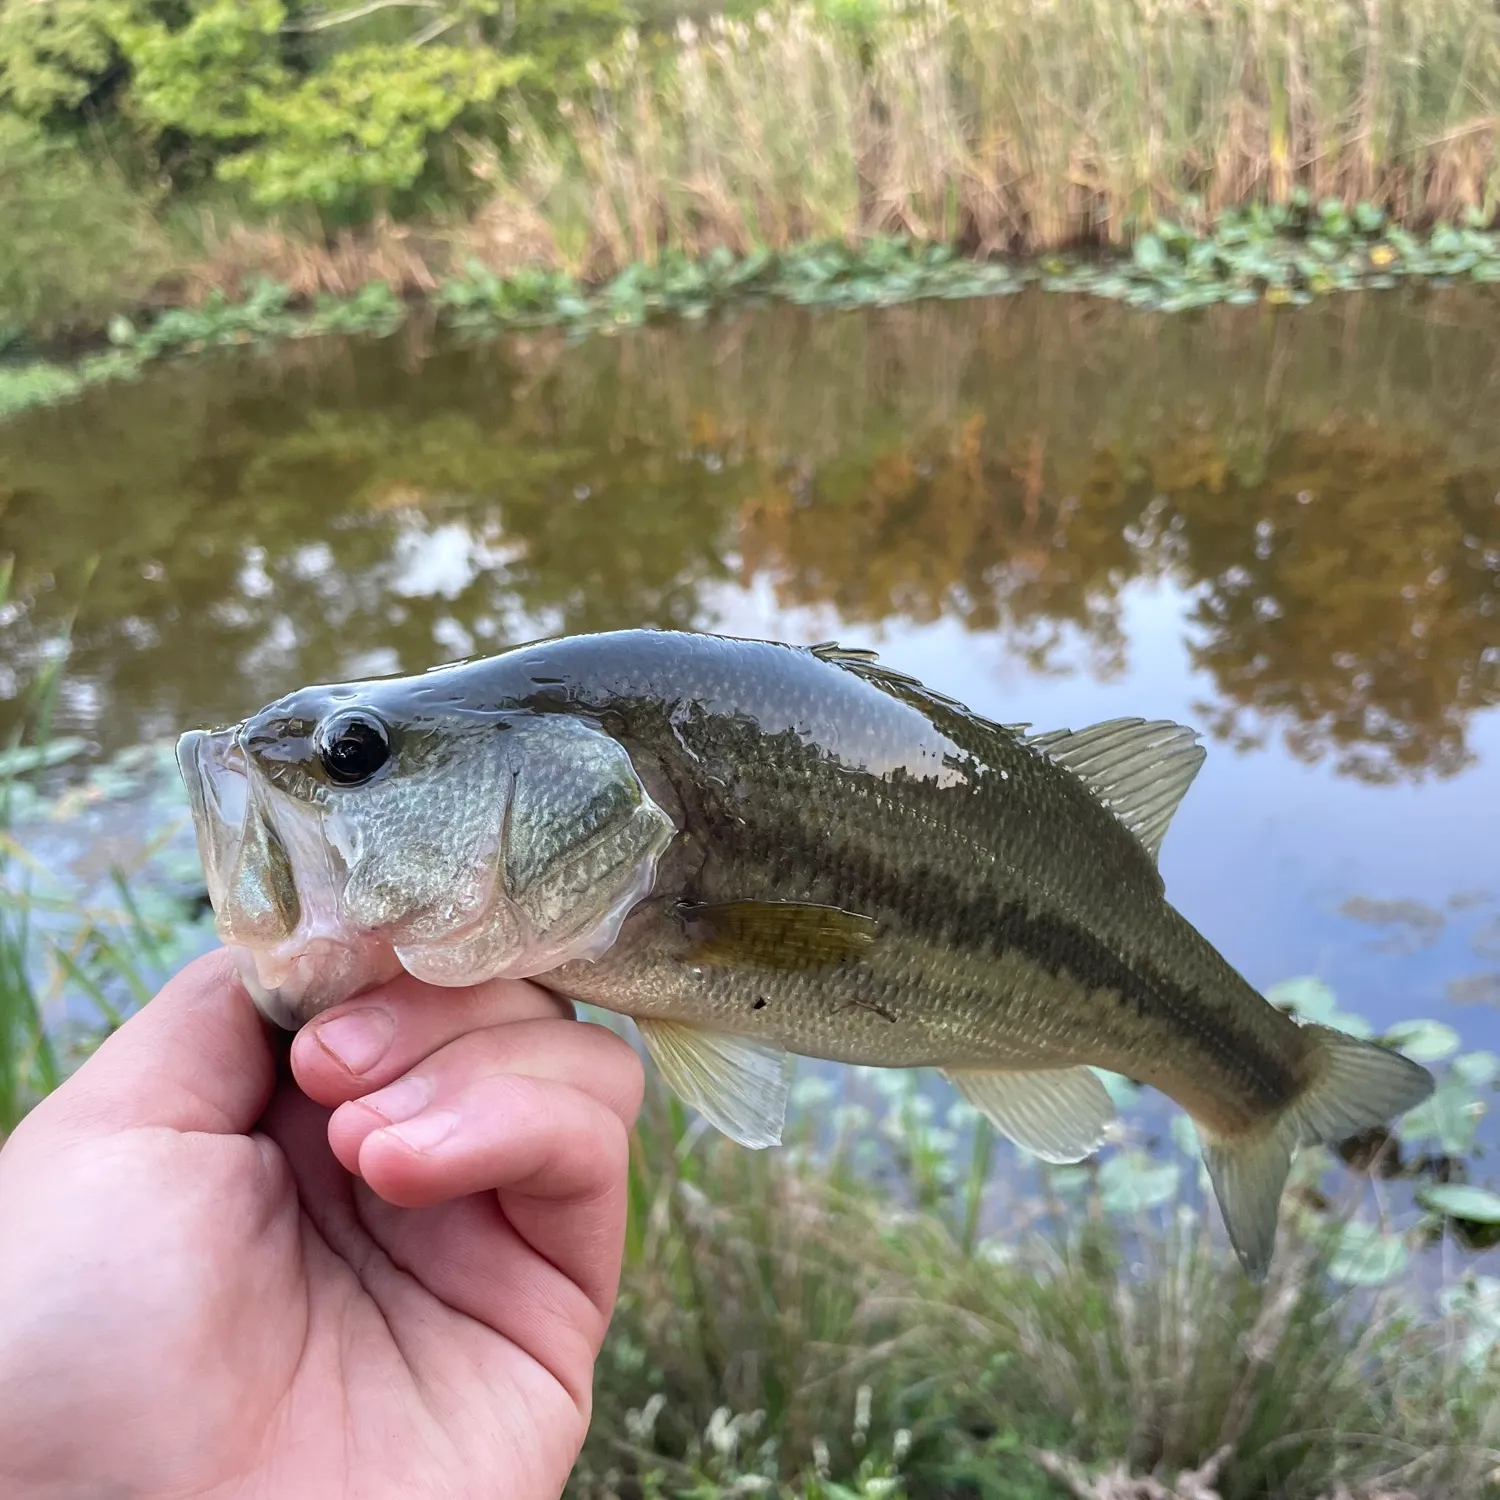
[[[837,638],[1005,722],[1202,728],[1185,915],[1500,1048],[1497,411],[1458,290],[168,364],[0,426],[0,732],[75,609],[99,754],[555,632]]]

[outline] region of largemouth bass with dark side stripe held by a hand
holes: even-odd
[[[1168,720],[1036,732],[836,642],[624,630],[306,687],[177,758],[218,933],[286,1029],[400,972],[530,978],[630,1017],[754,1149],[794,1056],[934,1068],[1047,1162],[1106,1142],[1124,1074],[1194,1122],[1257,1281],[1293,1154],[1432,1092],[1168,903],[1204,759]]]

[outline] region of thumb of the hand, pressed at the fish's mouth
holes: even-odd
[[[195,958],[33,1114],[74,1130],[243,1134],[276,1064],[266,1023],[222,948]]]

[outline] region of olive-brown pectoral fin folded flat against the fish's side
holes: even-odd
[[[682,902],[688,963],[730,969],[822,969],[864,957],[880,932],[872,916],[810,902]]]

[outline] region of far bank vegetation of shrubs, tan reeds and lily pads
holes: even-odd
[[[0,414],[417,306],[1500,282],[1491,6],[644,4],[0,4]]]

